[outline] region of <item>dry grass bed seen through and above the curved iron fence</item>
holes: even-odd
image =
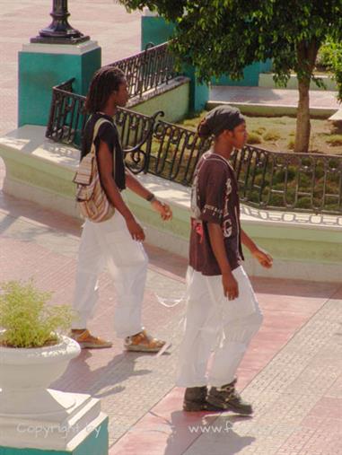
[[[200,118],[188,118],[180,126],[194,130]],[[277,125],[272,123],[273,120],[273,118],[246,118],[248,131],[250,131],[248,144],[256,144],[271,151],[292,152],[295,119],[285,118],[283,124],[278,122]],[[318,157],[315,168],[312,167],[310,156],[305,156],[301,160],[302,169],[298,168],[300,160],[295,154],[286,159],[283,155],[276,157],[276,167],[271,160],[264,161],[263,153],[259,155],[258,165],[255,162],[257,157],[252,158],[250,170],[247,169],[246,161],[241,162],[239,179],[247,182],[246,188],[241,188],[242,200],[244,191],[247,191],[245,193],[247,200],[258,205],[264,203],[267,206],[279,208],[288,206],[311,210],[313,204],[315,207],[324,205],[327,210],[339,210],[340,183],[338,169],[336,169],[339,161],[336,155],[342,153],[342,146],[332,146],[328,140],[336,139],[336,136],[340,139],[342,135],[332,135],[329,123],[326,121],[313,120],[312,124],[316,130],[311,135],[311,150],[314,149],[317,153],[335,154],[335,156],[329,158],[328,163]],[[191,145],[185,148],[183,145],[182,141],[180,144],[170,141],[167,135],[162,142],[153,138],[149,171],[182,184],[191,184],[199,153],[197,149],[194,153],[195,149],[192,149]],[[324,178],[327,164],[331,171]],[[298,195],[298,191],[304,194]],[[325,198],[323,198],[324,192]]]

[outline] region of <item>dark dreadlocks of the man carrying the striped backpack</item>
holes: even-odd
[[[126,76],[116,66],[102,66],[92,77],[84,109],[89,114],[104,109],[112,92],[118,91]]]

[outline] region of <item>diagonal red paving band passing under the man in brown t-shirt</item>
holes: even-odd
[[[338,288],[338,285],[334,284],[308,284],[305,282],[285,285],[284,280],[266,282],[265,279],[253,279],[253,283],[257,290],[263,289],[264,292],[258,297],[260,307],[264,312],[265,323],[252,340],[248,353],[239,368],[238,385],[240,389],[252,381]],[[279,293],[265,294],[265,288],[268,292],[276,289]],[[300,298],[300,302],[298,302],[298,296],[295,293],[305,296],[304,311],[301,304],[302,299]],[[316,297],[313,298],[313,295]],[[265,299],[266,296],[267,299]],[[264,299],[267,300],[265,306]],[[289,311],[286,311],[282,304],[283,299],[292,303]],[[278,314],[278,309],[281,309],[280,314]],[[189,431],[189,425],[202,424],[205,415],[182,413],[180,410],[182,398],[183,389],[172,389],[110,449],[110,455],[133,455],[135,453],[139,453],[139,455],[181,455],[184,453],[199,437],[198,434]],[[324,406],[327,406],[328,409],[330,403],[326,400],[321,401],[320,406],[317,407],[318,411],[325,409]],[[338,406],[335,407],[336,412],[338,412]],[[215,416],[206,418],[215,420]],[[296,446],[296,442],[294,445]]]

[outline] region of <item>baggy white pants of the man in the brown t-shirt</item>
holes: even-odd
[[[181,387],[221,387],[232,382],[259,330],[263,317],[250,279],[242,267],[232,274],[239,284],[239,297],[229,301],[222,276],[203,276],[188,269],[187,319],[177,372]]]

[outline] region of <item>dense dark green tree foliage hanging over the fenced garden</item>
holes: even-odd
[[[272,58],[277,83],[285,84],[291,73],[297,74],[299,109],[303,112],[309,109],[305,97],[311,80],[320,84],[313,74],[320,46],[328,38],[335,43],[342,40],[342,0],[121,0],[120,3],[132,9],[147,6],[175,22],[176,39],[172,47],[182,61],[196,66],[201,81],[208,82],[212,76],[221,74],[240,79],[245,66]],[[331,66],[339,74],[340,63],[340,59],[335,59],[335,65]],[[340,76],[337,81],[342,100]],[[303,119],[299,123],[303,125]],[[304,123],[307,124],[306,119]],[[310,122],[306,127],[310,131]]]

